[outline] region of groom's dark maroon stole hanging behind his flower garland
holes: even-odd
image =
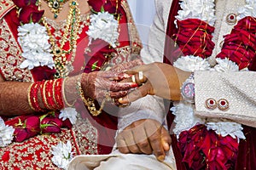
[[[170,9],[167,29],[166,29],[166,44],[165,44],[165,54],[164,54],[164,62],[167,64],[172,65],[173,61],[177,59],[178,56],[173,53],[177,50],[177,46],[175,46],[172,40],[172,35],[177,34],[177,28],[174,24],[175,16],[177,15],[177,11],[181,9],[180,1],[173,0],[172,7]],[[253,57],[253,61],[255,60],[255,53]],[[250,71],[255,71],[255,63],[250,62],[250,66],[248,66]],[[167,121],[169,127],[171,127],[173,122],[174,116],[172,112],[169,111],[167,116]],[[250,169],[253,170],[256,168],[256,128],[254,127],[243,127],[243,133],[245,134],[246,139],[241,139],[239,146],[238,146],[238,153],[234,167],[230,167],[230,169]],[[191,128],[192,129],[192,128]],[[198,129],[197,129],[198,130]],[[203,138],[203,137],[202,137]],[[189,141],[188,141],[189,143]],[[177,141],[177,136],[172,134],[172,149],[176,158],[176,164],[178,170],[186,170],[189,169],[189,164],[183,161],[183,155],[181,153],[179,146],[179,141]],[[196,158],[195,158],[196,159]],[[201,162],[198,162],[199,164]],[[212,169],[211,167],[197,167],[195,169]]]

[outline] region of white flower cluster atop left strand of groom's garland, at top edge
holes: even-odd
[[[177,20],[199,19],[206,21],[210,26],[216,20],[214,0],[183,0],[177,12]]]

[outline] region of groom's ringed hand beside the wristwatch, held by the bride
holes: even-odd
[[[190,75],[189,72],[181,71],[172,65],[157,62],[137,66],[126,73],[134,75],[129,78],[129,82],[137,82],[140,87],[120,98],[120,104],[129,104],[148,94],[179,100],[181,99],[180,87]]]

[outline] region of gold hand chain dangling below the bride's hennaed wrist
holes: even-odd
[[[91,98],[85,99],[85,97],[84,97],[84,91],[81,86],[81,77],[82,77],[82,74],[78,78],[78,82],[77,82],[77,88],[78,88],[79,95],[80,95],[81,99],[83,100],[84,105],[87,106],[88,111],[90,111],[90,114],[92,116],[99,116],[102,113],[102,110],[106,103],[107,98],[102,100],[102,105],[101,105],[100,109],[97,111],[96,106],[94,104],[94,99],[91,99]]]

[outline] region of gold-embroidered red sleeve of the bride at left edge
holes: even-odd
[[[0,68],[7,81],[32,82],[29,70],[21,70],[19,65],[24,60],[15,37],[6,20],[0,20]]]

